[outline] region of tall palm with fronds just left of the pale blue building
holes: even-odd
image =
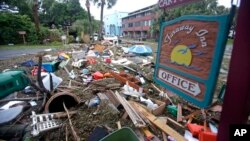
[[[97,4],[98,7],[101,7],[101,15],[100,15],[101,22],[100,22],[99,35],[102,38],[102,31],[103,31],[103,9],[104,9],[104,6],[107,5],[107,8],[110,9],[110,8],[112,8],[116,4],[117,0],[91,0],[91,1],[93,1],[94,4]]]

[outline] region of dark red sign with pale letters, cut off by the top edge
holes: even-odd
[[[200,0],[159,0],[158,5],[160,8],[169,9],[169,8],[173,8],[176,6],[193,3],[197,1],[200,1]]]

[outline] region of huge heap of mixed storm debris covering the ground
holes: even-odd
[[[153,83],[150,47],[103,44],[0,61],[0,139],[216,140],[219,98],[199,109]]]

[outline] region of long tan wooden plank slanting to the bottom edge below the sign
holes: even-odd
[[[155,124],[158,128],[160,128],[163,132],[175,138],[177,141],[187,141],[182,135],[180,135],[177,131],[166,125],[162,120],[159,120],[156,116],[148,112],[146,109],[142,108],[139,104],[133,103],[139,111],[153,124]]]

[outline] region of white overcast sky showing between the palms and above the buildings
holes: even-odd
[[[81,5],[84,9],[85,0],[80,0]],[[117,0],[116,5],[112,9],[104,9],[104,15],[109,15],[114,13],[114,11],[120,12],[133,12],[138,9],[156,4],[158,0]],[[230,7],[231,0],[218,0],[219,5],[224,5],[225,7]],[[91,15],[95,17],[95,19],[100,20],[100,8],[97,8],[96,5],[91,3],[90,7]]]

